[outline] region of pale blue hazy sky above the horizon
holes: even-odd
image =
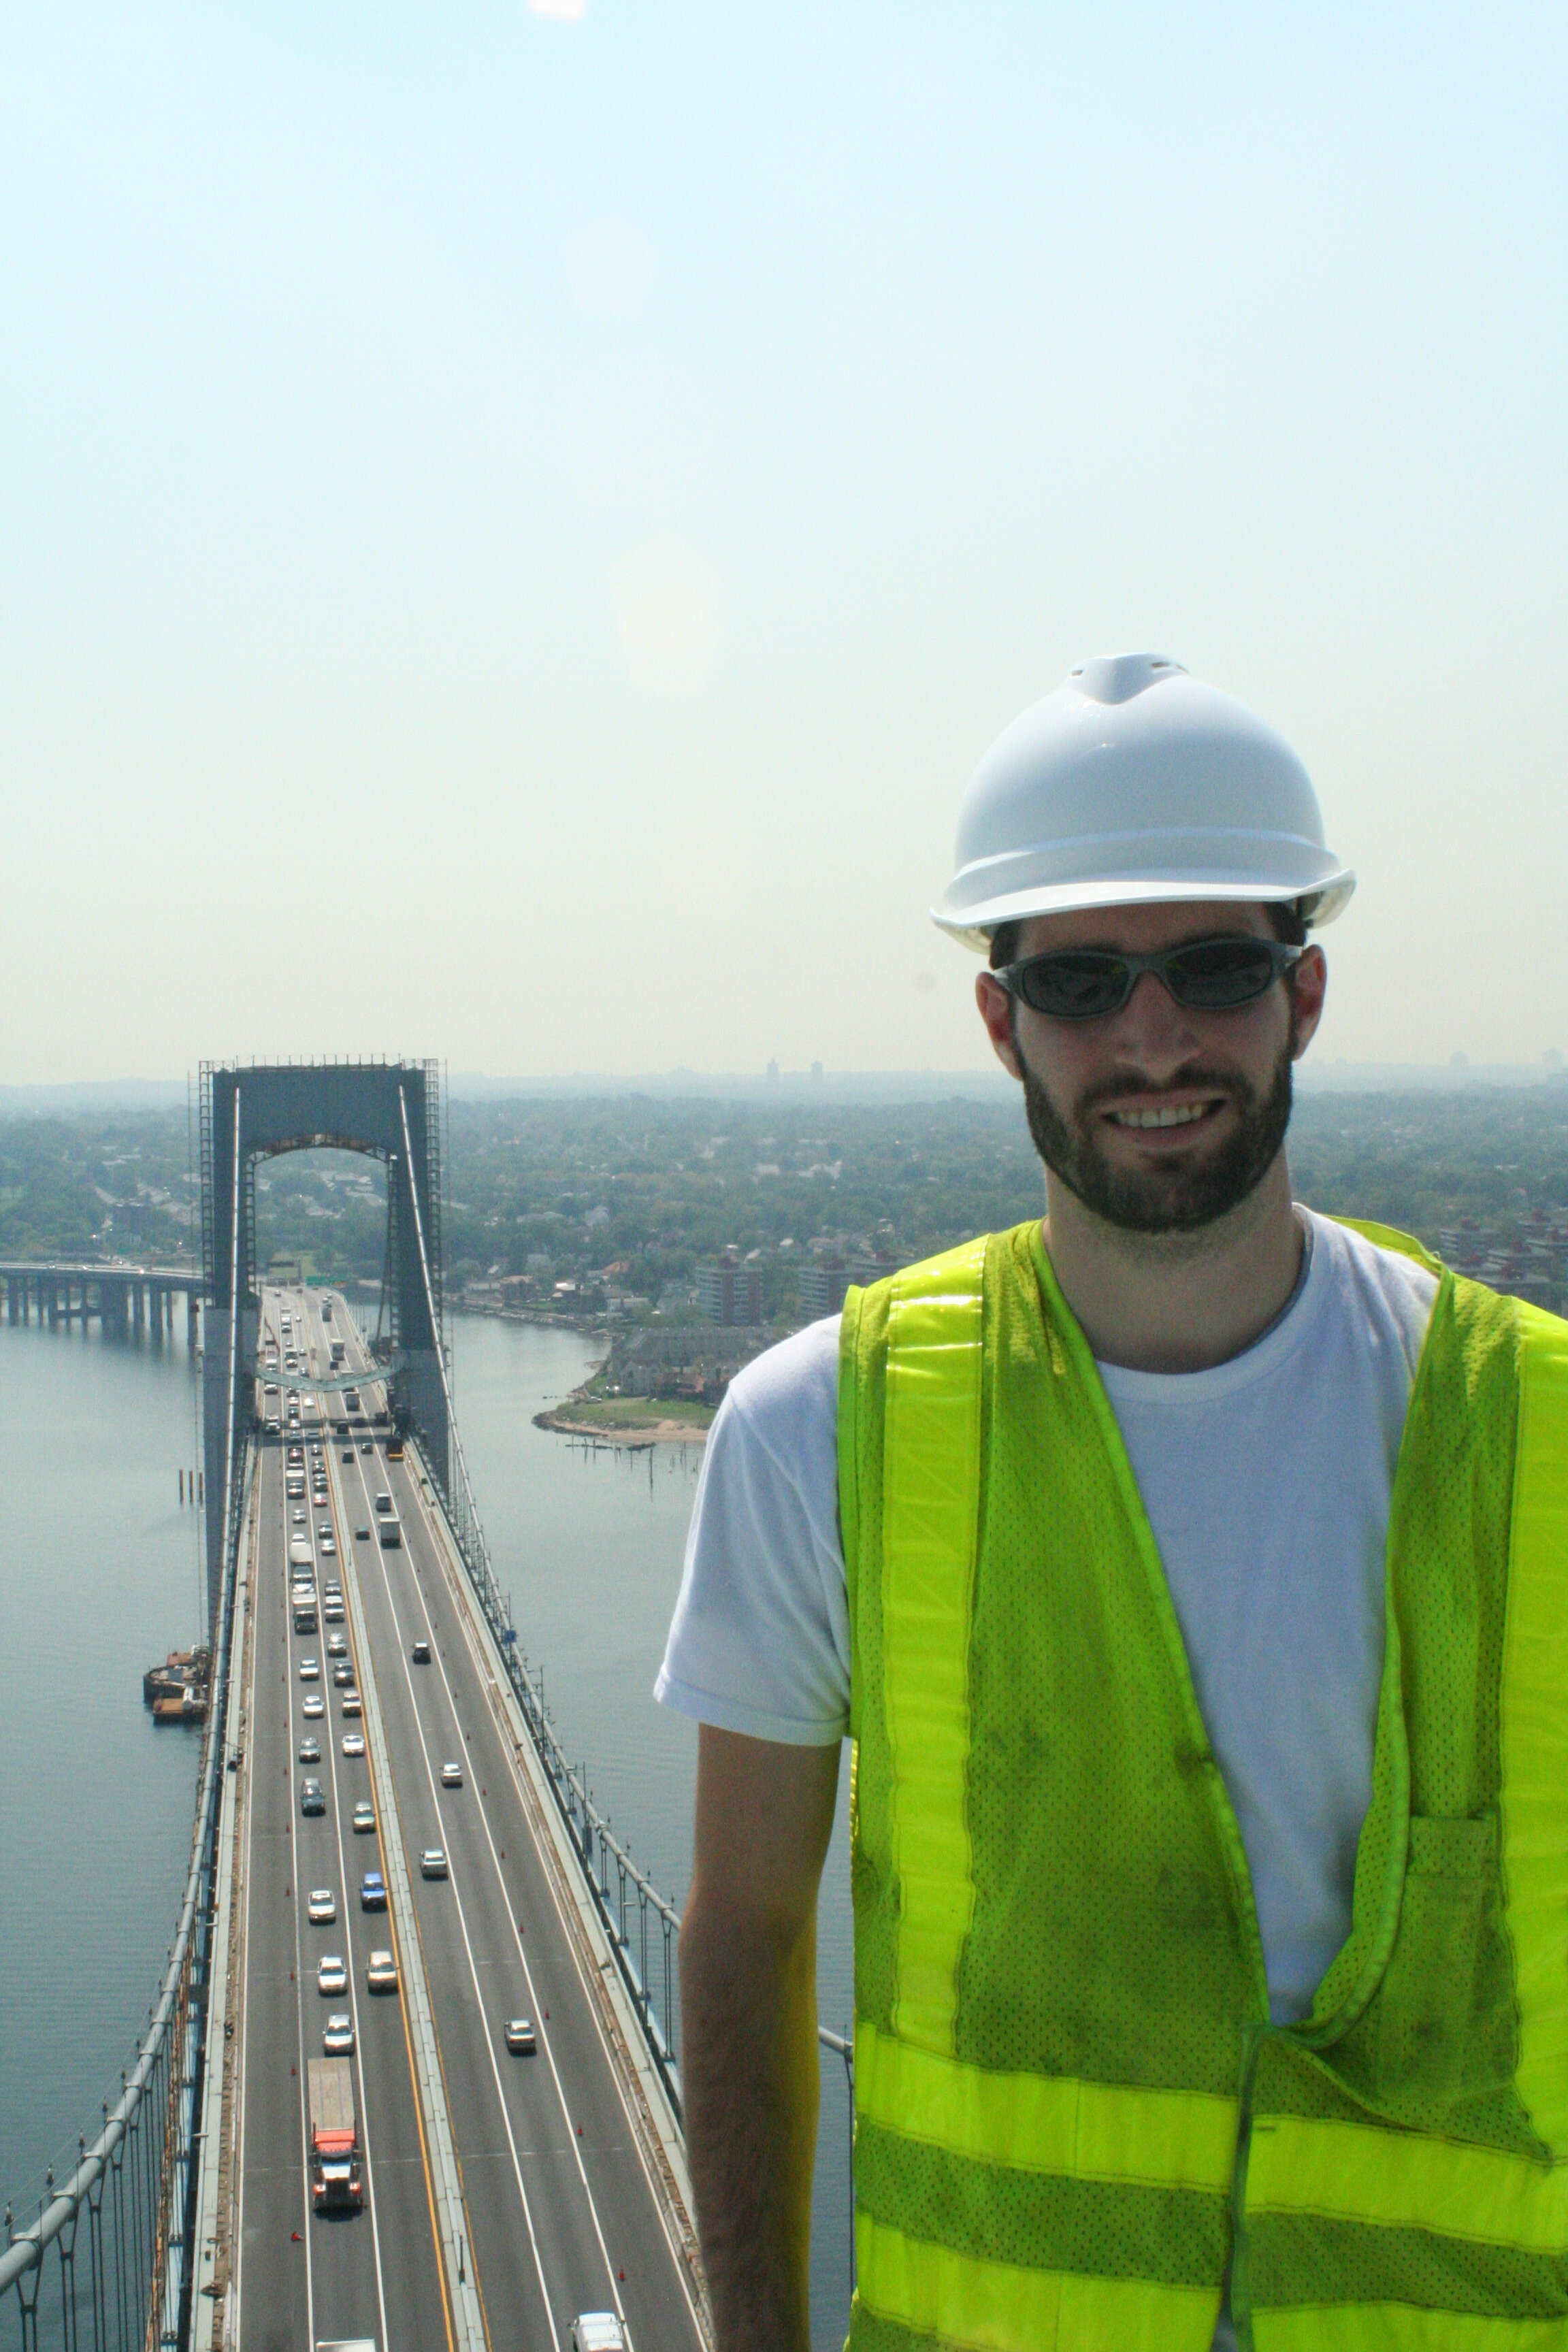
[[[964,1065],[990,739],[1173,654],[1568,1049],[1561,7],[12,0],[0,1080]]]

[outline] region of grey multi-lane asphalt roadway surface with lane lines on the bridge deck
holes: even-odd
[[[322,1294],[268,1291],[263,1329],[289,1310],[306,1322],[301,1367],[327,1371],[329,1338],[367,1371],[367,1421],[348,1439],[320,1428],[329,1510],[315,1519],[317,1590],[339,1566],[357,1609],[341,1628],[360,1684],[374,1677],[395,1785],[395,1809],[414,1896],[416,1933],[440,2037],[444,2098],[461,2164],[465,2263],[477,2279],[494,2352],[569,2352],[571,2319],[618,2310],[635,2352],[698,2352],[689,2270],[677,2227],[654,2185],[611,2063],[588,1962],[536,1842],[520,1766],[484,1700],[480,1635],[458,1604],[447,1548],[435,1541],[414,1458],[388,1463],[386,1432],[369,1428],[381,1390],[341,1298],[322,1327]],[[268,1399],[268,1409],[270,1409]],[[327,1411],[341,1414],[341,1399]],[[303,1421],[303,1442],[313,1425]],[[261,1451],[259,1576],[247,1646],[249,1823],[244,1865],[244,2004],[240,2060],[237,2272],[230,2340],[242,2352],[301,2352],[339,2338],[371,2338],[378,2352],[435,2352],[454,2343],[447,2279],[435,2237],[430,2152],[414,2082],[404,1992],[364,1990],[367,1952],[393,1945],[388,1915],[362,1915],[360,1877],[386,1872],[383,1825],[353,1832],[353,1806],[371,1799],[371,1771],[343,1755],[362,1729],[341,1715],[322,1621],[294,1635],[287,1606],[284,1444]],[[364,1451],[364,1439],[374,1451]],[[306,1456],[310,1465],[313,1456]],[[376,1543],[376,1494],[390,1494],[402,1545]],[[320,1555],[331,1522],[336,1562]],[[355,1536],[369,1529],[369,1541]],[[355,1632],[362,1628],[362,1644]],[[430,1663],[411,1661],[416,1637]],[[301,1682],[301,1658],[320,1682]],[[303,1698],[320,1691],[327,1715],[308,1724]],[[299,1764],[301,1738],[320,1736],[317,1766]],[[447,1759],[463,1788],[440,1783]],[[303,1818],[299,1783],[315,1771],[327,1813]],[[388,1832],[390,1835],[390,1832]],[[421,1851],[442,1846],[449,1879],[421,1877]],[[336,1893],[336,1922],[310,1926],[313,1886]],[[404,1926],[407,1933],[407,1926]],[[402,1959],[402,1945],[397,1945]],[[324,1952],[348,1962],[350,1992],[317,1992]],[[407,1969],[404,1969],[407,1978]],[[322,2051],[329,2011],[353,2009],[355,2096],[367,2154],[367,2204],[353,2216],[313,2216],[306,2169],[306,2060]],[[538,2056],[505,2049],[503,2020],[529,2016]]]

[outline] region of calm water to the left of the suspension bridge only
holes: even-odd
[[[205,1613],[176,1324],[153,1345],[0,1322],[0,2197],[19,2223],[120,2096],[190,1863],[200,1733],[141,1705],[143,1670]]]

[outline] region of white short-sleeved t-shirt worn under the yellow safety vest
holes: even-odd
[[[1349,1936],[1373,1792],[1394,1463],[1436,1275],[1298,1209],[1279,1322],[1211,1371],[1100,1364],[1237,1811],[1276,2025]],[[769,1348],[708,1435],[656,1698],[724,1731],[849,1729],[837,1317]],[[1229,2312],[1215,2352],[1234,2347]]]

